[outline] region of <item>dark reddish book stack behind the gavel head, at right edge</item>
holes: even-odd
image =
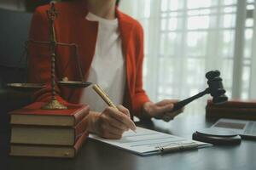
[[[209,118],[231,118],[256,120],[256,101],[230,100],[222,105],[207,101],[206,116]]]

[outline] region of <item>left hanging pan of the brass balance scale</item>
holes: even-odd
[[[13,88],[20,91],[33,91],[40,88],[45,88],[44,83],[8,83],[6,86],[8,88]]]

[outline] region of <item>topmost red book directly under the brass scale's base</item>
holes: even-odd
[[[44,102],[35,102],[11,111],[10,123],[19,125],[74,127],[89,114],[87,105],[67,105],[67,110],[42,110]]]

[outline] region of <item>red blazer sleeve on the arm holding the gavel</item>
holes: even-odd
[[[144,58],[144,47],[143,47],[143,27],[137,24],[137,76],[135,82],[135,95],[132,99],[132,106],[135,116],[140,116],[143,111],[144,103],[150,101],[148,95],[143,89],[143,58]]]

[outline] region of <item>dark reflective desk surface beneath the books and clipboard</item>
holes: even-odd
[[[210,127],[213,122],[202,116],[177,116],[172,122],[147,122],[143,127],[172,133],[188,139],[195,130]],[[1,138],[2,139],[2,138]],[[256,141],[242,140],[240,145],[213,146],[158,156],[137,156],[108,144],[91,141],[84,143],[75,159],[10,157],[1,153],[0,168],[4,169],[256,169]]]

